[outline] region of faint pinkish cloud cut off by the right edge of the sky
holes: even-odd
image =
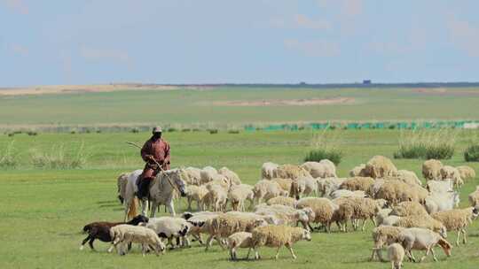
[[[479,57],[479,27],[456,18],[449,19],[447,27],[456,46],[471,57]]]

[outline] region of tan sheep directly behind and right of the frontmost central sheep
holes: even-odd
[[[326,232],[329,233],[331,231],[334,211],[336,211],[339,206],[326,198],[305,197],[298,201],[297,208],[303,209],[306,207],[310,207],[315,213],[315,219],[313,219],[312,222],[322,223],[326,228]]]

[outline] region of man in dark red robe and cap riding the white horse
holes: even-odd
[[[148,198],[150,183],[156,174],[161,170],[169,170],[169,143],[161,138],[161,132],[161,127],[154,127],[153,136],[145,142],[141,149],[141,158],[146,164],[138,184],[137,196],[139,199]]]

